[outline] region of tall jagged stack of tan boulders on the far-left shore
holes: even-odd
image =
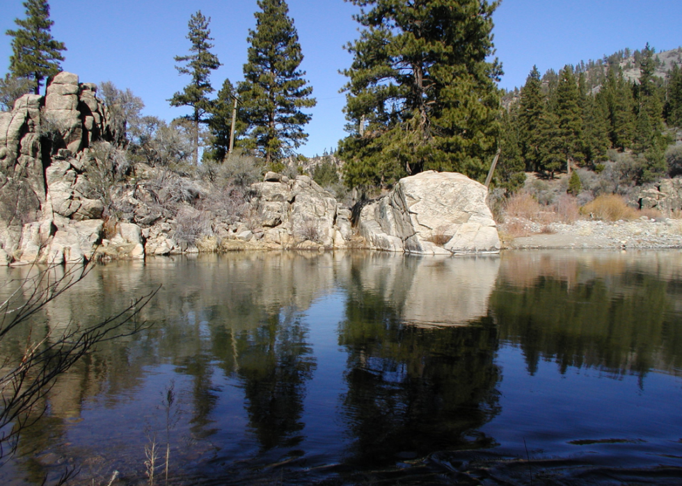
[[[0,264],[95,257],[104,204],[93,188],[99,169],[90,147],[107,130],[96,91],[62,72],[45,97],[24,95],[13,111],[0,113]],[[143,254],[141,238],[120,244],[130,247],[126,256]]]

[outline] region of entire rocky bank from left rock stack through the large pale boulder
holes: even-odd
[[[24,95],[0,113],[0,264],[248,249],[500,249],[486,188],[454,173],[406,177],[354,209],[305,175],[268,172],[246,188],[239,211],[216,187],[144,163],[113,184],[101,153],[117,149],[108,110],[97,86],[62,72],[44,97]]]

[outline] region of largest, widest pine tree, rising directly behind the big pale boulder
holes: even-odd
[[[486,0],[351,0],[360,38],[344,71],[349,186],[388,185],[422,170],[483,179],[500,133],[502,73]]]

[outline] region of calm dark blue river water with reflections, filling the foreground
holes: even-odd
[[[57,382],[0,483],[143,484],[154,440],[177,485],[682,481],[682,252],[109,264],[33,335],[159,284],[151,329]]]

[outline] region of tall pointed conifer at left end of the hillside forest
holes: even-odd
[[[526,170],[539,170],[539,123],[544,109],[544,97],[541,92],[540,72],[536,66],[528,74],[521,90],[518,111],[519,143],[525,159]]]

